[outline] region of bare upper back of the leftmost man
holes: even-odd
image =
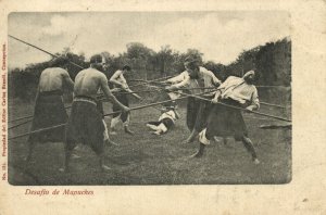
[[[61,67],[46,68],[39,79],[39,91],[62,90],[63,83],[67,81],[68,86],[73,86],[68,73]]]

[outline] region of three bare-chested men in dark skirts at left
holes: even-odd
[[[111,123],[111,129],[114,131],[116,124],[122,121],[125,131],[131,135],[133,131],[128,128],[128,101],[123,97],[115,98],[110,90],[108,78],[103,73],[106,65],[102,55],[91,56],[90,67],[80,71],[75,77],[75,81],[71,79],[67,71],[63,68],[67,63],[68,60],[65,58],[53,59],[50,67],[41,73],[32,131],[61,124],[66,125],[33,132],[27,140],[29,150],[26,160],[30,160],[36,142],[63,141],[65,143],[65,164],[61,170],[66,172],[70,168],[72,151],[77,143],[84,143],[89,144],[96,152],[100,167],[109,169],[103,162],[104,144],[114,144],[114,142],[109,138],[102,102],[98,96],[101,91],[113,103],[115,115]],[[128,71],[130,71],[130,67],[127,65],[122,71],[116,71],[110,81],[116,85],[116,88],[133,92],[129,90],[123,76]],[[70,116],[67,116],[63,103],[62,94],[64,88],[73,90],[74,94]],[[116,89],[115,91],[120,90]],[[135,93],[134,96],[140,99],[139,96]]]

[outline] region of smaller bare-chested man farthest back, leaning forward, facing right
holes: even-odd
[[[117,91],[125,91],[125,92],[130,92],[134,97],[136,97],[137,99],[141,99],[141,97],[139,97],[136,93],[133,93],[133,90],[129,89],[128,85],[127,85],[127,80],[124,77],[124,74],[128,73],[131,71],[131,67],[128,65],[125,65],[122,69],[116,71],[112,77],[110,78],[110,83],[113,84],[115,90]],[[125,106],[129,106],[129,101],[127,98],[126,93],[118,93],[116,94],[116,99],[124,104]],[[113,112],[118,111],[120,108],[116,104],[113,104]],[[123,126],[124,126],[124,130],[126,134],[129,135],[134,135],[134,131],[131,131],[129,129],[129,122],[130,122],[130,113],[117,113],[113,115],[113,118],[111,121],[111,135],[116,135],[116,130],[115,130],[115,126],[122,122]]]

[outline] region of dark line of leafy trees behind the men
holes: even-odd
[[[62,53],[55,54],[65,54],[70,61],[85,68],[89,66],[84,53],[73,53],[68,48],[63,49]],[[212,71],[222,80],[230,75],[241,76],[249,69],[255,69],[259,76],[256,85],[287,87],[291,84],[291,41],[289,38],[243,50],[234,62],[227,65],[214,61],[203,61],[203,53],[197,49],[188,49],[183,53],[174,50],[171,46],[163,46],[160,51],[155,52],[140,42],[128,43],[126,52],[117,55],[108,51],[101,54],[110,65],[108,71],[104,72],[108,78],[125,64],[130,65],[134,71],[127,77],[129,79],[154,79],[175,76],[185,69],[184,61],[191,55],[197,59],[200,65]],[[40,73],[49,65],[50,61],[47,61],[28,64],[25,68],[10,69],[9,97],[33,100]],[[74,79],[80,68],[70,64],[67,71]]]

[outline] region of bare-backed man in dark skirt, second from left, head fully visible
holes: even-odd
[[[97,54],[90,59],[90,67],[80,71],[75,78],[75,97],[66,126],[65,166],[61,170],[68,170],[72,151],[77,143],[89,144],[99,156],[100,167],[104,170],[110,169],[103,164],[105,127],[102,114],[97,108],[98,90],[101,89],[104,96],[113,104],[118,105],[123,112],[129,112],[129,109],[120,103],[112,94],[106,76],[100,72],[102,69],[103,58]]]

